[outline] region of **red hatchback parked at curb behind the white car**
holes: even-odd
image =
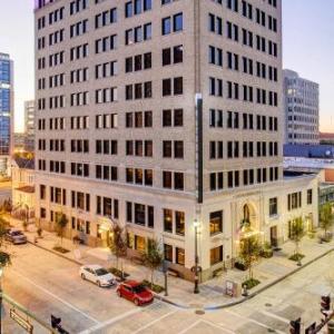
[[[151,303],[154,299],[153,293],[141,283],[136,281],[126,281],[120,283],[116,292],[119,297],[131,301],[137,306]]]

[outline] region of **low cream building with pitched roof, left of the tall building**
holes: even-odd
[[[35,163],[33,159],[14,157],[11,160],[12,215],[35,216]]]

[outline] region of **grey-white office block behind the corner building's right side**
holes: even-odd
[[[285,143],[320,144],[318,84],[284,70]]]

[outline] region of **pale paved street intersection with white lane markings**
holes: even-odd
[[[69,333],[288,333],[289,321],[299,316],[305,326],[320,322],[320,296],[331,291],[331,275],[333,281],[331,254],[250,301],[196,314],[200,305],[179,310],[155,301],[136,307],[120,299],[115,287],[81,281],[75,263],[30,244],[10,246],[10,250],[13,258],[4,273],[4,293],[45,322],[50,314],[60,316]],[[23,333],[12,328],[6,316],[3,333]]]

